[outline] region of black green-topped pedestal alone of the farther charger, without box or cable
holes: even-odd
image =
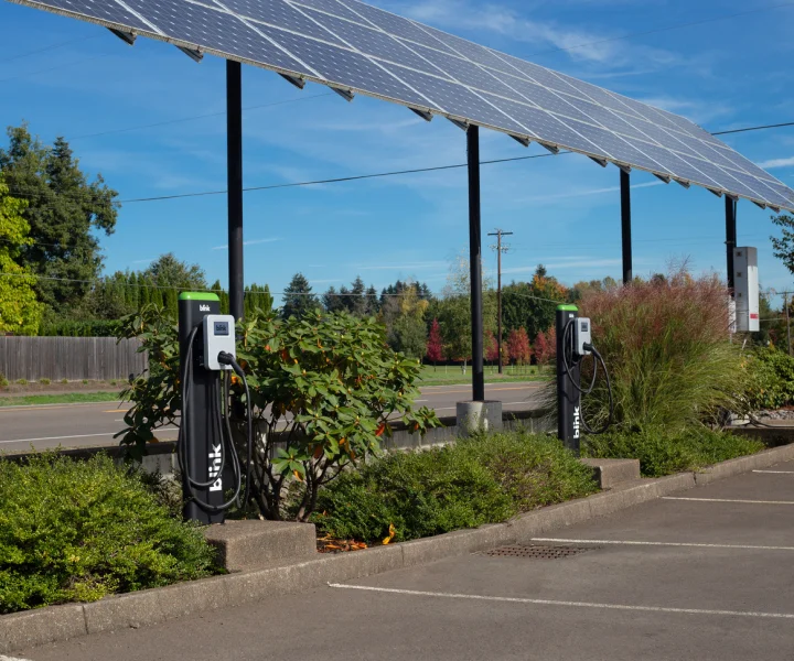
[[[579,317],[576,305],[559,305],[557,307],[557,437],[565,446],[579,455],[581,435],[581,393],[577,390],[581,375],[578,362],[566,366],[562,357],[570,357],[573,361],[573,347],[565,346],[565,329],[571,319]],[[573,333],[568,334],[568,344],[573,342]]]

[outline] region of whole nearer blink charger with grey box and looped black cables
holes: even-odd
[[[237,365],[235,318],[222,315],[221,300],[206,292],[185,292],[179,300],[180,388],[182,421],[178,442],[187,521],[223,523],[239,503],[244,472],[230,424],[230,375],[243,382],[247,402],[247,464],[253,429],[245,372]],[[247,498],[248,481],[246,480]],[[228,492],[233,496],[226,500]]]

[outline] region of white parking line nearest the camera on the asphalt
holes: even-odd
[[[360,589],[414,597],[437,597],[440,599],[470,599],[473,602],[503,602],[507,604],[528,604],[533,606],[567,606],[571,608],[601,608],[604,610],[636,610],[643,613],[674,613],[680,615],[719,615],[732,617],[755,617],[769,619],[794,619],[791,613],[759,613],[754,610],[708,610],[702,608],[667,608],[664,606],[629,606],[625,604],[598,604],[592,602],[561,602],[558,599],[528,599],[524,597],[491,597],[485,595],[463,595],[457,593],[434,593],[418,589],[396,589],[390,587],[373,587],[369,585],[344,585],[329,583],[329,587],[341,589]]]

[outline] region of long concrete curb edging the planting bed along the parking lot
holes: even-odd
[[[71,638],[158,625],[204,610],[240,606],[265,597],[411,567],[494,546],[529,543],[539,534],[655,500],[675,491],[794,459],[794,445],[725,462],[702,473],[641,479],[589,498],[516,517],[506,523],[355,553],[323,555],[266,570],[214,576],[169,587],[108,597],[92,604],[50,606],[0,616],[0,654]]]

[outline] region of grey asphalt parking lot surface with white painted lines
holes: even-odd
[[[455,557],[14,655],[32,661],[793,658],[794,462],[534,543],[549,549]]]

